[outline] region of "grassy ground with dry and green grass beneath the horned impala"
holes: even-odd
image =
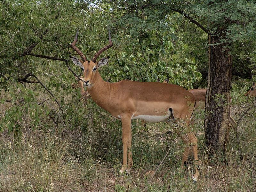
[[[163,123],[147,124],[146,129],[140,128],[140,121],[132,123],[134,167],[131,175],[120,176],[121,123],[92,103],[81,113],[80,103],[73,113],[78,111],[83,122],[75,128],[44,116],[36,130],[24,118],[18,141],[13,132],[1,134],[0,191],[256,191],[256,109],[245,114],[253,100],[232,98],[232,116],[236,121],[242,117],[238,135],[244,160],[233,130],[226,156],[208,156],[203,114],[197,114],[198,154],[203,163],[196,184],[191,181],[193,159],[182,172],[184,146],[176,133],[166,134],[171,129]],[[7,108],[5,104],[1,111]]]

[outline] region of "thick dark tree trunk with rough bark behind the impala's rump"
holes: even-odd
[[[217,36],[208,36],[208,44],[217,44]],[[226,44],[209,46],[208,85],[205,102],[205,145],[225,149],[230,116],[232,59]]]

